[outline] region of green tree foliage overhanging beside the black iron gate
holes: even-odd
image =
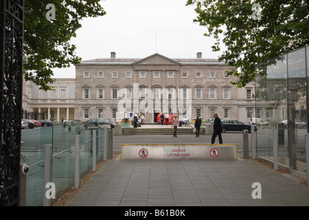
[[[80,63],[76,46],[69,41],[81,28],[80,20],[106,14],[100,0],[25,0],[24,12],[24,75],[41,89],[50,89],[53,68]],[[54,19],[49,19],[54,5]],[[48,19],[47,19],[48,18]]]

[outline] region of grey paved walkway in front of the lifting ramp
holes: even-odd
[[[253,199],[261,185],[261,199]],[[309,206],[309,187],[252,159],[108,160],[67,206]]]

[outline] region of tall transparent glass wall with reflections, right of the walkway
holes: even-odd
[[[257,132],[257,155],[273,161],[273,131],[278,162],[306,172],[308,133],[308,46],[256,66],[255,109],[264,124]],[[306,65],[307,63],[307,65]]]

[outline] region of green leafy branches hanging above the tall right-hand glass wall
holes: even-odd
[[[254,80],[256,64],[309,43],[306,0],[187,0],[187,5],[196,5],[194,22],[216,39],[213,51],[222,43],[227,48],[219,60],[235,67],[228,74],[238,77],[231,82],[238,87]]]

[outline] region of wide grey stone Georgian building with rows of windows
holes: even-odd
[[[157,122],[159,113],[179,119],[207,120],[214,113],[221,119],[247,122],[255,117],[254,83],[238,88],[225,71],[231,67],[216,59],[97,58],[76,65],[76,78],[56,78],[51,91],[24,85],[23,109],[42,113],[55,121],[108,118],[119,121],[129,113],[144,114],[145,122]]]

